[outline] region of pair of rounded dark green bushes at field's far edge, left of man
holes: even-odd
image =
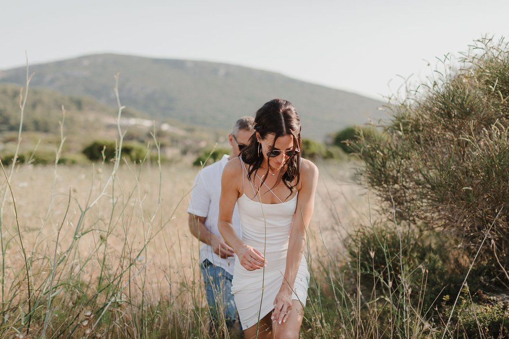
[[[83,148],[83,154],[90,161],[111,161],[115,159],[118,145],[115,141],[96,140]],[[122,146],[122,157],[131,161],[142,161],[147,156],[147,148],[138,142],[126,142]]]

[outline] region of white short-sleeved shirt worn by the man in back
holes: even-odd
[[[205,227],[213,234],[221,235],[217,228],[219,219],[219,198],[221,196],[221,175],[224,166],[228,163],[228,155],[224,155],[220,161],[203,168],[194,179],[194,186],[191,191],[191,200],[187,212],[205,218]],[[240,228],[239,212],[237,204],[233,211],[232,224],[239,238],[242,238]],[[203,244],[200,249],[200,262],[208,259],[216,266],[220,266],[230,274],[233,274],[235,256],[228,259],[221,259],[212,251],[212,247]]]

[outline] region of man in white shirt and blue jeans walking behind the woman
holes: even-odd
[[[217,219],[222,170],[224,165],[230,159],[238,157],[242,148],[249,143],[249,138],[254,132],[253,121],[251,116],[244,116],[237,120],[232,133],[228,136],[232,155],[224,155],[220,161],[205,167],[196,175],[187,208],[189,230],[203,243],[200,249],[200,268],[212,318],[211,331],[220,329],[223,322],[231,331],[237,320],[237,307],[231,294],[235,253],[221,237],[217,229]],[[237,206],[235,206],[232,222],[240,237]]]

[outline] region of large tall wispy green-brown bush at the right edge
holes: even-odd
[[[445,230],[463,243],[468,260],[495,223],[492,245],[477,257],[478,264],[493,266],[477,279],[503,288],[508,281],[500,265],[509,270],[509,47],[482,39],[461,61],[460,71],[437,72],[440,78],[390,102],[384,134],[361,134],[352,147],[365,163],[366,185],[395,205],[399,220]]]

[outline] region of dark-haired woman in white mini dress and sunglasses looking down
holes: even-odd
[[[263,105],[254,130],[249,146],[224,167],[218,228],[237,255],[232,293],[246,338],[298,338],[318,169],[300,157],[300,119],[289,101]],[[242,239],[231,225],[235,203]]]

